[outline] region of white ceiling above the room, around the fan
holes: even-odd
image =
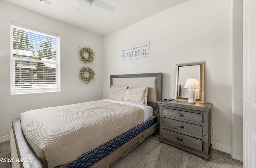
[[[106,36],[188,0],[102,0],[114,6],[114,12],[92,5],[89,10],[84,10],[81,16],[74,15],[74,0],[56,0],[52,6],[40,0],[5,1],[88,32]]]

